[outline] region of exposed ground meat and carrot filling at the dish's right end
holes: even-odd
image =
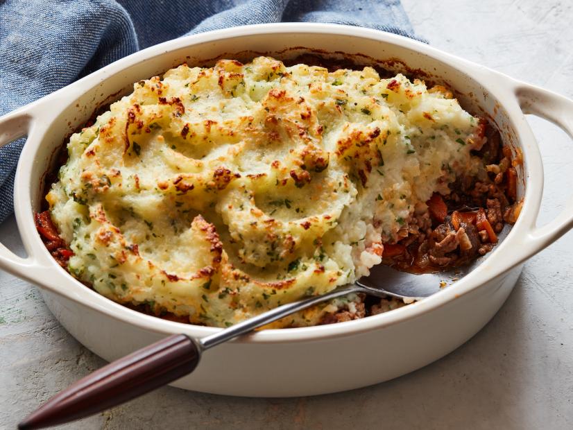
[[[479,179],[461,176],[449,194],[434,193],[428,211],[409,220],[407,236],[384,244],[384,264],[414,273],[468,264],[492,250],[506,223],[515,223],[521,209],[515,170],[520,156],[512,160],[495,128],[486,126],[486,136],[488,142],[477,155],[487,174]]]

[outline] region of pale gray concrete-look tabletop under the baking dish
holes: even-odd
[[[403,0],[434,46],[573,98],[573,2]],[[546,166],[540,223],[573,190],[573,144],[537,118]],[[0,240],[16,242],[15,222]],[[527,262],[501,311],[452,354],[348,393],[246,399],[162,388],[62,429],[571,429],[573,233]],[[0,427],[103,365],[35,287],[0,273]],[[351,365],[351,363],[349,363]]]

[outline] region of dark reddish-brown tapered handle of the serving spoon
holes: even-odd
[[[63,424],[117,406],[193,372],[199,359],[198,345],[185,334],[174,334],[80,379],[49,399],[18,428]]]

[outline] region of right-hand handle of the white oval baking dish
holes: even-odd
[[[515,96],[524,114],[533,114],[551,121],[573,138],[573,101],[570,99],[526,83],[518,83]],[[535,222],[535,221],[534,221]],[[573,196],[567,201],[563,211],[542,227],[532,225],[529,235],[524,238],[522,260],[531,257],[539,250],[559,239],[573,228]]]

